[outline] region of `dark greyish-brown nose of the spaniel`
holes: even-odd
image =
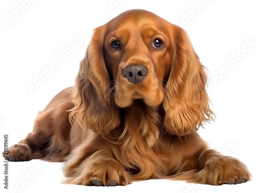
[[[147,68],[143,65],[130,65],[123,69],[123,75],[129,82],[137,84],[147,75]]]

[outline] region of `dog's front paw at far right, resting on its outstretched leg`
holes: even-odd
[[[222,185],[244,183],[251,175],[238,159],[220,155],[209,158],[195,177],[201,184]]]

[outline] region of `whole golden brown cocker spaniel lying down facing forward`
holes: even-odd
[[[209,149],[197,133],[214,117],[206,83],[183,29],[148,11],[126,11],[95,29],[74,87],[39,112],[33,132],[5,157],[66,161],[71,184],[246,182],[246,166]]]

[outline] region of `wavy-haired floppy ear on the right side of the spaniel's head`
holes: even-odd
[[[185,136],[215,116],[209,108],[205,67],[186,32],[175,26],[173,61],[163,101],[164,126],[169,133]]]

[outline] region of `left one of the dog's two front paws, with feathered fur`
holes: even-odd
[[[111,152],[99,150],[93,155],[83,158],[74,156],[64,167],[68,177],[64,183],[87,186],[116,186],[131,183],[131,176],[124,166],[115,160]]]

